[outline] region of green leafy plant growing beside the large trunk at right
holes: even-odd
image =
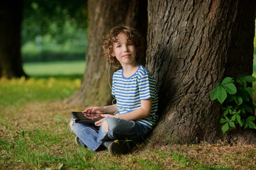
[[[211,91],[211,101],[218,100],[223,106],[223,123],[221,130],[225,133],[230,127],[235,128],[235,124],[244,128],[256,129],[255,106],[252,104],[252,87],[247,83],[256,81],[255,77],[239,74],[236,81],[231,77],[226,77],[222,82],[218,82],[216,88]]]

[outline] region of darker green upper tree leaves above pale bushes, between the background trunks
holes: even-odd
[[[72,37],[67,27],[87,28],[87,1],[25,0],[23,5],[23,44],[37,35],[50,35],[58,42]]]

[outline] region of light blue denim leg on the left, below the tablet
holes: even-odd
[[[87,147],[93,151],[99,148],[106,137],[106,132],[103,132],[101,127],[99,128],[84,123],[74,123],[73,118],[71,118],[70,121],[73,121],[72,132],[82,140],[84,145],[87,145]]]

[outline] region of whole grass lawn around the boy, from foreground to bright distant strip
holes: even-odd
[[[255,145],[140,144],[118,157],[77,147],[67,124],[70,112],[83,108],[63,99],[81,84],[79,64],[65,74],[25,64],[30,79],[0,79],[0,169],[256,169]]]

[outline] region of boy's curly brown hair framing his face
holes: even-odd
[[[104,58],[107,62],[110,62],[113,67],[121,67],[120,62],[113,56],[113,44],[118,42],[118,35],[120,33],[125,34],[128,37],[128,40],[132,41],[136,49],[135,60],[138,62],[141,57],[143,57],[143,36],[138,33],[135,28],[130,28],[128,26],[116,26],[111,28],[109,33],[104,37]]]

